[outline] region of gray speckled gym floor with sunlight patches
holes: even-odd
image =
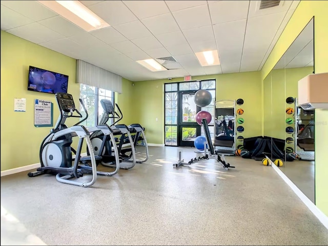
[[[1,244],[328,244],[328,231],[271,167],[227,156],[236,169],[213,159],[175,169],[179,150],[185,160],[200,155],[150,147],[146,163],[98,176],[90,188],[27,172],[2,177]]]

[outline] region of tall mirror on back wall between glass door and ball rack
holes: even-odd
[[[214,147],[218,153],[235,154],[235,115],[235,100],[218,100],[215,102]]]

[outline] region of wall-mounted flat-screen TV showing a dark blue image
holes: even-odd
[[[68,75],[29,67],[28,90],[56,94],[67,93]]]

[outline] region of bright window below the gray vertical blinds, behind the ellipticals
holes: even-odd
[[[87,120],[81,124],[85,127],[95,127],[99,124],[101,115],[104,113],[100,104],[101,99],[111,100],[114,106],[114,93],[94,86],[80,84],[80,98],[83,100],[89,115]],[[86,115],[82,106],[80,106],[80,112],[83,116]],[[112,122],[113,120],[110,119],[107,123],[110,125]]]

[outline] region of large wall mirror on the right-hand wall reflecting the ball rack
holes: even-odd
[[[271,160],[278,159],[280,170],[315,203],[315,113],[297,104],[298,80],[312,73],[314,17],[263,81],[263,130],[271,139]]]

